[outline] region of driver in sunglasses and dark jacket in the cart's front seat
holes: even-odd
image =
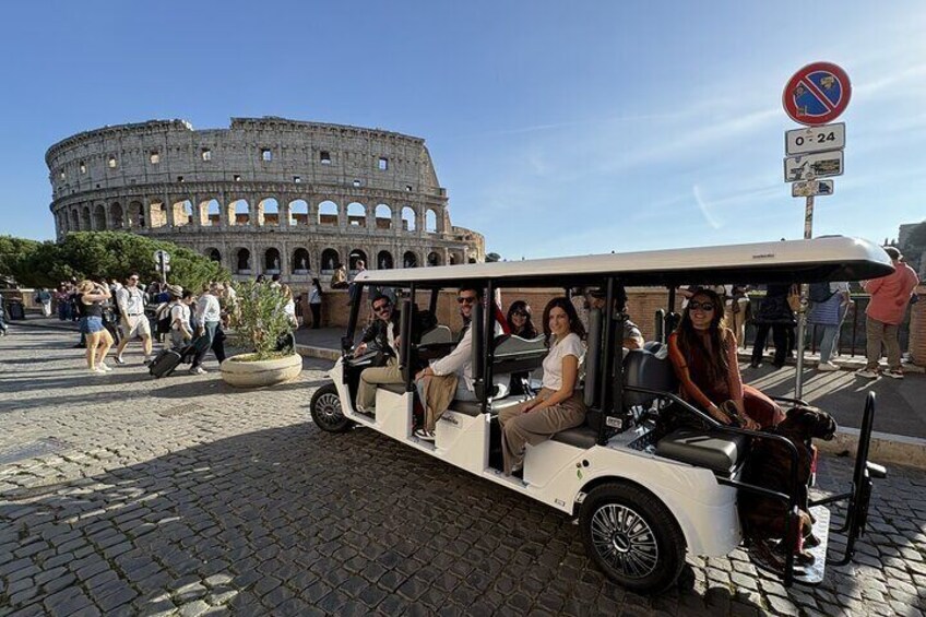
[[[383,366],[370,367],[360,373],[357,389],[357,410],[372,413],[376,407],[376,388],[379,383],[403,383],[399,370],[399,316],[389,296],[377,295],[372,301],[373,321],[360,336],[354,357],[361,356],[372,346],[385,357]]]

